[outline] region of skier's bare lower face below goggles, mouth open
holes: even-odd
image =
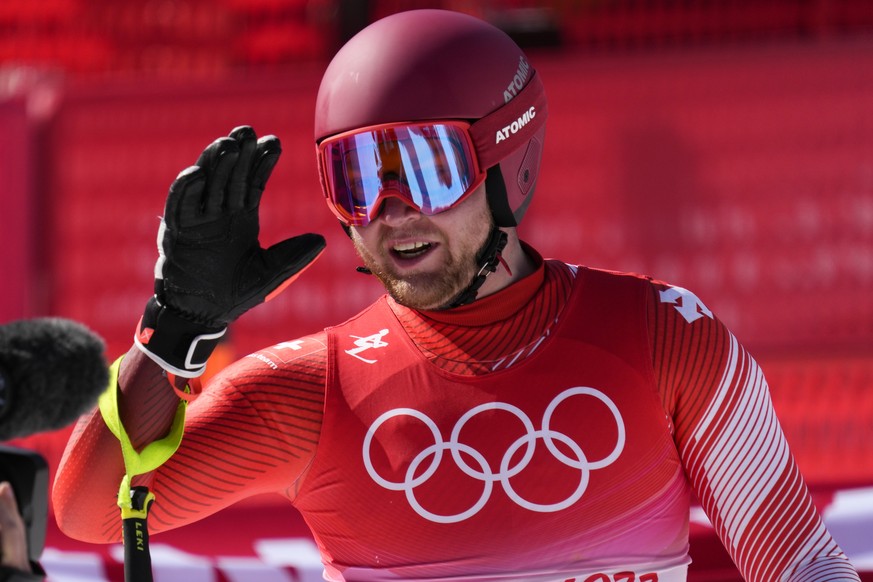
[[[387,198],[375,220],[351,227],[351,237],[364,266],[398,303],[437,309],[472,281],[479,269],[476,254],[491,222],[482,185],[454,208],[433,216]]]

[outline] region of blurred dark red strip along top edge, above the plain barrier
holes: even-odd
[[[586,51],[873,30],[867,0],[9,0],[0,62],[85,77],[210,77],[324,59],[367,22],[413,8],[474,14],[526,46]]]

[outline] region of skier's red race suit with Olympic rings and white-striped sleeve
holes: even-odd
[[[694,494],[747,580],[858,580],[761,370],[705,304],[537,258],[473,304],[383,297],[227,368],[149,476],[152,530],[273,491],[327,580],[673,582]],[[83,418],[54,489],[68,535],[117,541],[113,447]]]

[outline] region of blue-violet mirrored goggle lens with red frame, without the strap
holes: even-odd
[[[397,125],[340,135],[321,145],[328,202],[354,226],[370,222],[388,196],[423,214],[448,210],[481,182],[461,124]]]

